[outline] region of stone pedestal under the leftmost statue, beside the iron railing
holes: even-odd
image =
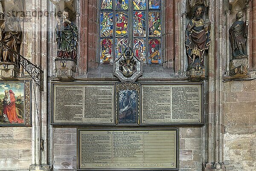
[[[10,62],[0,62],[0,79],[19,78],[20,69]]]

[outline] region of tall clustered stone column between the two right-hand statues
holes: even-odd
[[[222,1],[209,1],[209,17],[212,21],[211,46],[209,48],[208,115],[206,115],[206,157],[203,171],[225,171],[223,157],[223,16]]]

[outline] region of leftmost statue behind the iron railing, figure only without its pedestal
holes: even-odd
[[[12,11],[7,12],[6,20],[1,25],[0,40],[3,41],[3,43],[6,43],[6,45],[15,50],[18,54],[20,53],[21,28],[20,23],[15,20]],[[17,61],[13,58],[13,55],[10,55],[8,50],[3,50],[0,55],[1,62],[12,62],[17,64]]]

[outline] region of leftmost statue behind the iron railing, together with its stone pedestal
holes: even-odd
[[[0,78],[2,79],[19,77],[20,61],[17,61],[19,59],[15,57],[12,50],[20,54],[21,35],[20,23],[15,20],[13,12],[7,11],[4,19],[1,15],[0,41],[5,45],[0,48]]]

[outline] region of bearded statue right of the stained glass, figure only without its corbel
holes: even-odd
[[[187,71],[191,69],[201,70],[205,67],[205,51],[209,48],[210,24],[203,19],[204,6],[194,7],[192,18],[186,27],[186,55],[188,58]]]

